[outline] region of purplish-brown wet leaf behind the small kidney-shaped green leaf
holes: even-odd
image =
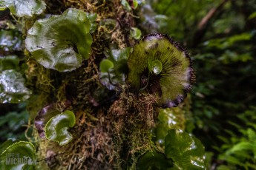
[[[35,118],[35,126],[37,129],[37,132],[39,133],[39,137],[45,137],[45,125],[50,120],[50,118],[53,118],[56,115],[59,115],[61,112],[56,109],[56,103],[49,104],[45,107],[43,107],[38,113]]]

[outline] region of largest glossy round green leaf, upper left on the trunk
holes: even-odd
[[[59,72],[81,66],[91,54],[91,21],[87,13],[70,8],[62,16],[40,19],[27,32],[26,48],[45,68]]]

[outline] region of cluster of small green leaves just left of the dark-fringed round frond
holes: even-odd
[[[112,90],[125,83],[125,74],[128,72],[127,59],[130,51],[130,47],[120,50],[105,50],[107,59],[100,63],[99,81],[102,85]]]

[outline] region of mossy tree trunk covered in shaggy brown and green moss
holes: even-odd
[[[128,86],[110,91],[99,83],[99,62],[105,49],[132,47],[131,27],[136,27],[132,11],[113,1],[46,1],[47,12],[60,14],[69,7],[96,13],[98,27],[93,35],[91,56],[73,72],[45,69],[33,59],[27,61],[27,84],[34,97],[27,109],[33,118],[47,109],[72,110],[76,125],[70,129],[73,140],[65,146],[36,139],[42,169],[135,169],[138,157],[156,146],[151,128],[157,118],[156,98],[133,94]],[[114,24],[113,24],[114,21]],[[27,25],[30,25],[27,23]],[[29,26],[27,26],[29,28]],[[184,122],[183,112],[181,122]],[[31,125],[32,126],[32,125]]]

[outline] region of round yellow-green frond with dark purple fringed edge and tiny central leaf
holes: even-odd
[[[161,33],[145,35],[134,45],[128,68],[131,88],[157,95],[163,107],[181,103],[195,80],[188,52]]]

